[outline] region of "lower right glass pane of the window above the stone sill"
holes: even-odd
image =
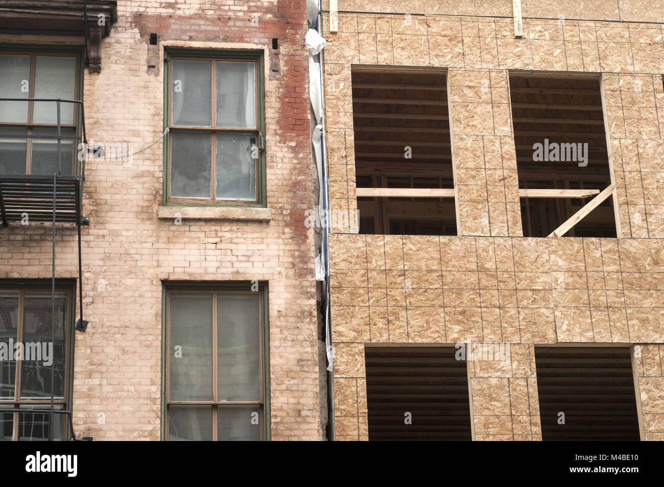
[[[216,199],[256,199],[255,142],[252,134],[216,135]]]

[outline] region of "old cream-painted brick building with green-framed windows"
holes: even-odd
[[[61,104],[56,183],[69,193],[58,193],[54,243],[54,408],[73,411],[76,437],[325,434],[313,229],[302,216],[313,201],[306,9],[0,2],[0,98],[26,99],[0,102],[3,343],[51,336],[58,140],[38,136],[56,137],[57,116],[54,102],[27,100],[82,100],[85,111],[83,121]],[[21,174],[37,179],[11,176]],[[21,191],[46,195],[39,211]],[[82,296],[72,214],[89,219]],[[79,297],[85,332],[73,329]],[[48,437],[48,414],[19,412],[50,408],[41,364],[2,364],[2,439]],[[70,435],[67,423],[56,414],[54,437]]]

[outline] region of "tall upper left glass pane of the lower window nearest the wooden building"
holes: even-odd
[[[170,400],[212,401],[212,294],[171,294]]]

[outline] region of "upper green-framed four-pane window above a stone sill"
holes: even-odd
[[[164,202],[265,205],[260,52],[168,50]]]

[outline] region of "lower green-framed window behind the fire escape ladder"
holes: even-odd
[[[55,290],[52,341],[50,282],[0,282],[0,440],[47,440],[51,370],[54,408],[69,411],[73,371],[74,288]],[[25,412],[23,412],[25,411]],[[53,437],[68,438],[68,417],[54,415]]]

